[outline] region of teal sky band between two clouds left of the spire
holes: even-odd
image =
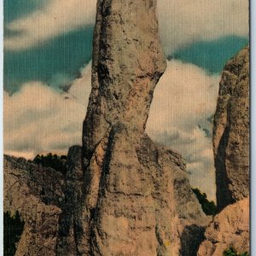
[[[70,84],[91,59],[92,34],[93,27],[89,26],[32,49],[5,50],[4,90],[14,92],[32,80],[44,81],[56,89]]]

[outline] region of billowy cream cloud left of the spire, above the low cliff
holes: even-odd
[[[13,96],[4,92],[5,154],[31,159],[38,153],[67,154],[70,146],[81,144],[90,68],[82,72],[82,78],[73,81],[68,94],[40,82],[24,84]]]

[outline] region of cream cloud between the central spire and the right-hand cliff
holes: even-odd
[[[146,129],[155,142],[183,155],[192,186],[211,199],[215,198],[212,137],[203,129],[212,131],[207,119],[216,109],[218,81],[218,76],[209,76],[192,64],[168,61],[154,90]]]

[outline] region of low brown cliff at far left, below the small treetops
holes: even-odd
[[[16,255],[55,255],[64,179],[61,172],[4,156],[3,210],[25,221]]]

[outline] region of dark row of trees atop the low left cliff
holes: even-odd
[[[36,163],[38,165],[42,165],[44,167],[51,167],[53,169],[55,169],[56,171],[60,171],[62,172],[64,175],[67,172],[67,168],[65,166],[65,161],[63,162],[63,160],[67,160],[67,156],[66,155],[61,155],[58,156],[56,154],[41,154],[41,155],[37,155],[34,160],[33,163]]]

